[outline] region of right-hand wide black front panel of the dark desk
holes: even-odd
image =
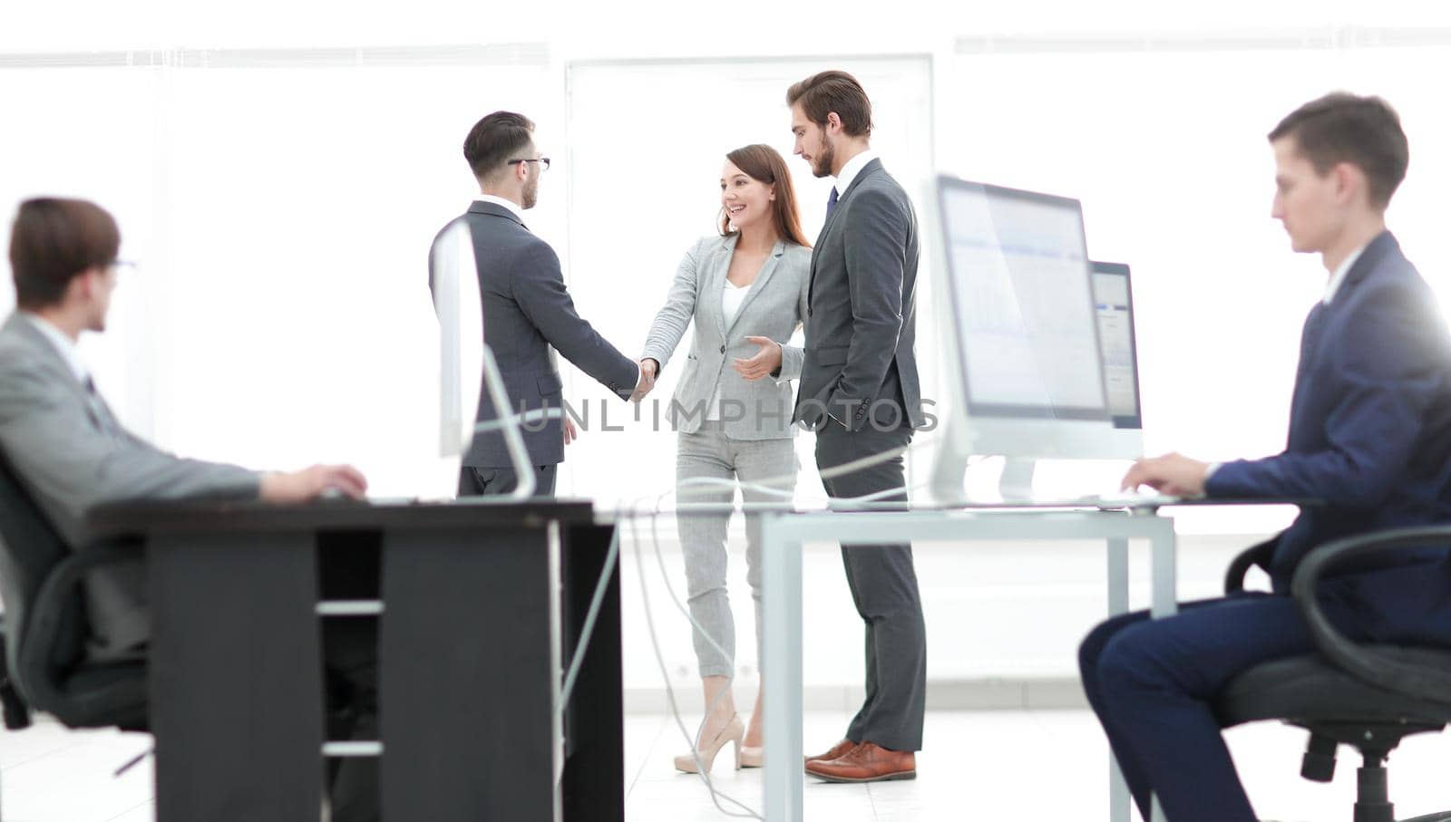
[[[383,819],[556,821],[550,570],[544,525],[385,532]]]

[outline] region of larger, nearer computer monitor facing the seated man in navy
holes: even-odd
[[[1006,499],[1032,496],[1035,460],[1136,457],[1111,435],[1078,200],[949,175],[927,200],[949,362],[934,494],[962,497],[972,455],[1008,458]]]

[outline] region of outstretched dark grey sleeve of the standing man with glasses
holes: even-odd
[[[621,399],[630,399],[640,365],[609,345],[575,310],[554,249],[544,242],[530,245],[511,267],[511,277],[515,302],[544,339],[580,371]]]

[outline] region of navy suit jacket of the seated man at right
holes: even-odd
[[[1284,452],[1223,464],[1206,493],[1325,502],[1306,506],[1277,538],[1270,576],[1281,593],[1306,552],[1331,539],[1451,522],[1451,339],[1435,294],[1390,232],[1306,319]],[[1387,597],[1419,576],[1429,587],[1415,587],[1444,599],[1445,557],[1412,549],[1390,560],[1400,565],[1392,576],[1368,571],[1384,562],[1360,565],[1344,584],[1393,605]]]

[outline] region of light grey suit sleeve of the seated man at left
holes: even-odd
[[[68,387],[25,367],[0,374],[0,445],[73,544],[97,505],[131,499],[257,499],[261,474],[181,460],[91,422]]]

